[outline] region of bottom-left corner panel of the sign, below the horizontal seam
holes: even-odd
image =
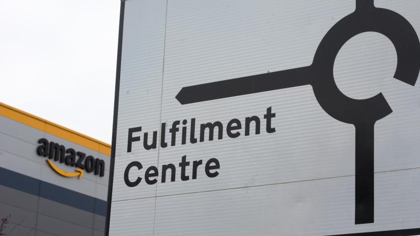
[[[110,235],[152,235],[154,198],[113,202]]]

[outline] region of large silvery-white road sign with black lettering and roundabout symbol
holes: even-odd
[[[110,235],[420,233],[420,2],[122,2]]]

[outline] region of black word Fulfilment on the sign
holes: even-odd
[[[272,113],[271,107],[268,107],[266,114],[264,114],[264,120],[266,120],[267,133],[276,132],[276,129],[272,127],[272,118],[274,117],[276,117],[276,113]],[[226,125],[226,134],[228,135],[229,138],[237,138],[241,135],[242,126],[244,126],[244,135],[249,136],[251,124],[253,124],[255,127],[254,134],[255,135],[260,134],[261,121],[259,117],[256,115],[245,117],[245,124],[242,124],[241,121],[239,121],[238,119],[230,120]],[[166,148],[169,145],[170,146],[177,145],[177,133],[180,132],[180,129],[181,129],[181,145],[186,144],[187,139],[189,140],[191,144],[194,144],[197,142],[204,142],[206,133],[208,133],[208,141],[214,140],[215,136],[217,136],[217,139],[221,140],[223,139],[223,131],[225,130],[223,124],[219,121],[216,121],[213,123],[208,122],[208,123],[199,125],[200,133],[199,135],[196,135],[195,134],[195,127],[196,127],[195,118],[190,119],[189,124],[187,120],[183,120],[182,126],[180,125],[181,125],[181,121],[174,121],[172,123],[171,128],[169,128],[171,139],[170,139],[170,142],[168,142],[166,139],[167,124],[166,123],[161,124],[160,146],[162,148]],[[189,126],[189,134],[187,134],[188,126]],[[217,133],[215,134],[216,130],[217,130]],[[141,126],[128,129],[127,152],[131,152],[132,146],[135,145],[135,142],[141,141],[140,139],[141,135],[136,134],[138,132],[141,132]],[[150,137],[149,132],[143,133],[142,136],[143,136],[142,143],[143,143],[144,149],[150,150],[150,149],[155,149],[157,147],[158,131],[152,132],[151,141],[149,140],[149,137]]]

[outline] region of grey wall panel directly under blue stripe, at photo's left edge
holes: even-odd
[[[15,190],[3,185],[0,185],[0,202],[6,203],[12,206],[20,207],[30,211],[37,211],[38,208],[38,196],[27,194],[19,190]]]

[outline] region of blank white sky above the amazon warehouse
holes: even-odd
[[[119,0],[0,1],[0,101],[111,143]]]

